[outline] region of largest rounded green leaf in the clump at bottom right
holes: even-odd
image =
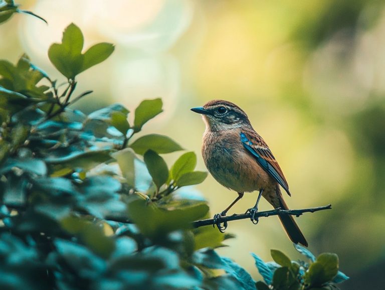
[[[338,256],[332,253],[322,253],[305,273],[305,281],[311,286],[322,286],[331,281],[337,272]]]

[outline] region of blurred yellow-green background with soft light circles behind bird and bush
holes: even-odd
[[[16,15],[0,26],[0,58],[26,52],[61,79],[47,51],[71,22],[85,47],[107,41],[112,57],[78,78],[85,112],[120,102],[132,111],[161,97],[164,113],[144,133],[173,137],[200,157],[204,123],[189,108],[233,101],[279,161],[290,208],[331,203],[297,219],[315,254],[340,257],[342,289],[383,289],[385,277],[385,2],[371,0],[18,0],[45,18]],[[179,154],[166,156],[169,164]],[[210,176],[197,189],[221,212],[236,193]],[[257,194],[232,210],[243,213]],[[269,209],[262,201],[261,210]],[[260,276],[250,252],[300,257],[277,218],[232,222],[222,255]]]

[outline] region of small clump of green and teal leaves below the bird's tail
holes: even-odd
[[[294,245],[310,262],[291,261],[279,250],[271,250],[274,262],[265,263],[253,254],[255,263],[265,282],[256,283],[258,290],[327,290],[339,289],[335,284],[349,277],[338,271],[338,256],[322,253],[317,258],[306,248]]]

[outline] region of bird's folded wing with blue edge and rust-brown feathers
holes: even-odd
[[[262,137],[255,132],[252,134],[241,132],[241,142],[246,150],[253,155],[258,164],[291,196],[289,185],[283,176],[282,170]]]

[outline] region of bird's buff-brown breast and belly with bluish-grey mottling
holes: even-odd
[[[206,131],[202,155],[211,175],[237,192],[259,190],[270,182],[268,174],[243,147],[238,130]]]

